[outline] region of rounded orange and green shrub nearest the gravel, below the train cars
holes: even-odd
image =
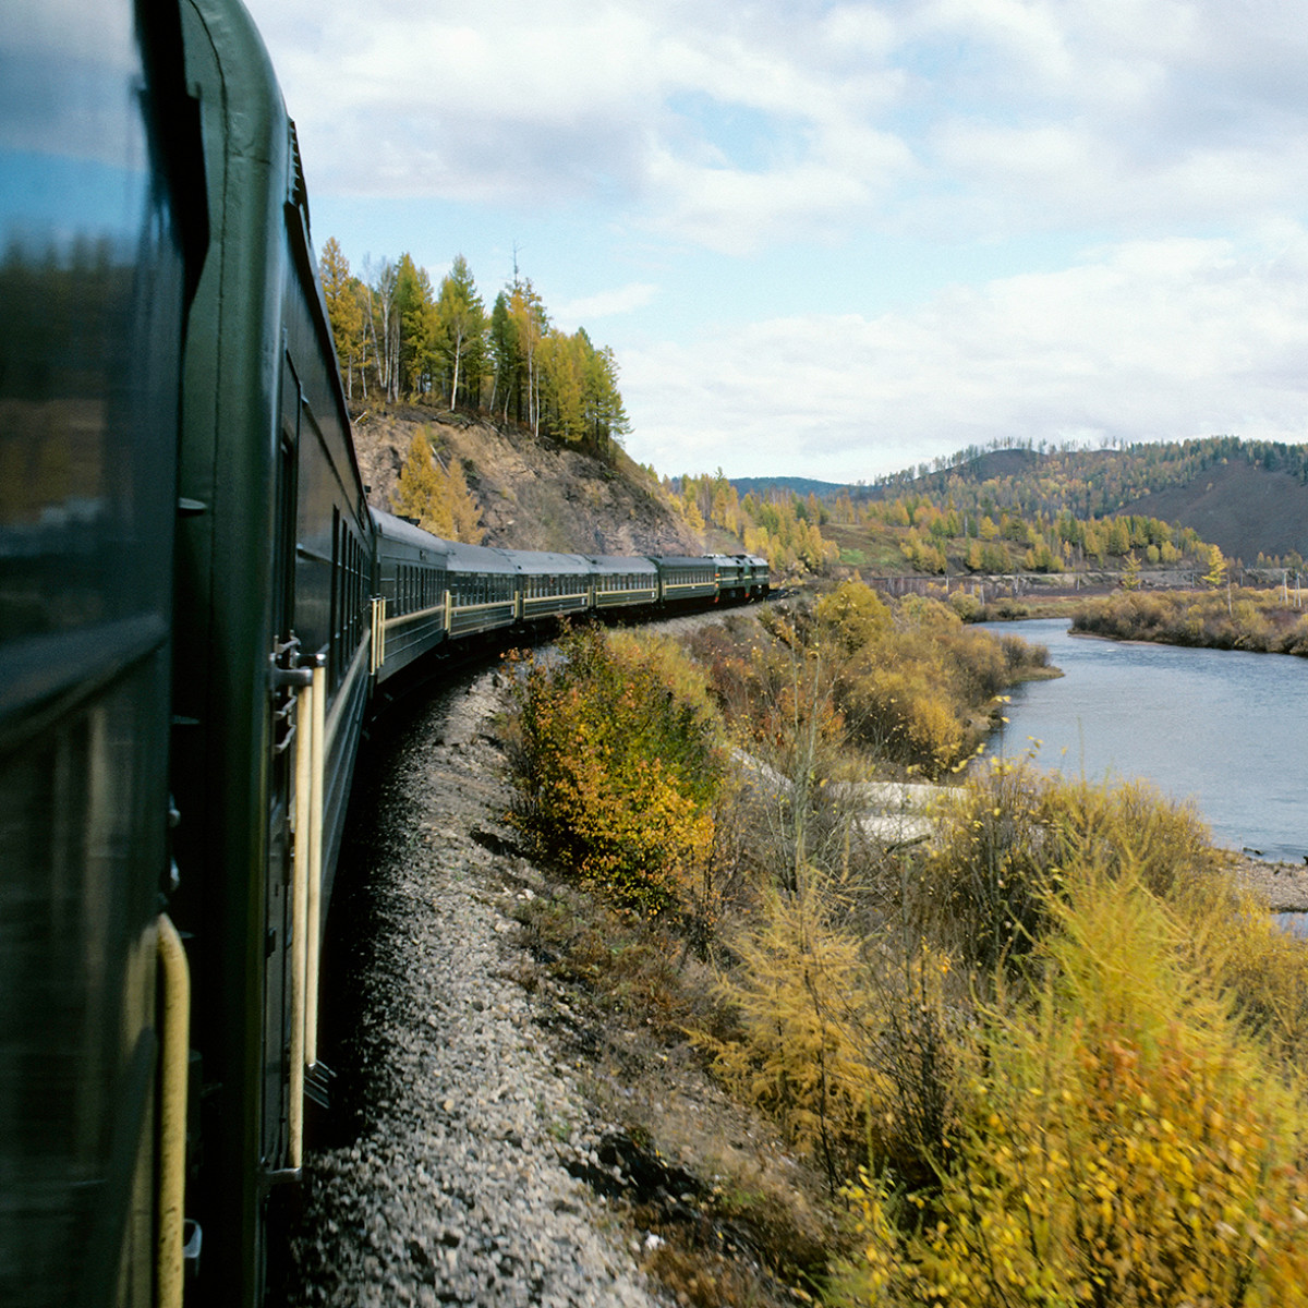
[[[582,629],[517,681],[513,821],[615,905],[704,913],[726,777],[702,678],[668,642]]]

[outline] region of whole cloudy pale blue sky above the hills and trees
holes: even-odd
[[[319,250],[611,345],[664,475],[1308,439],[1284,0],[247,0]]]

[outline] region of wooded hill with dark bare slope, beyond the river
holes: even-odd
[[[1054,572],[1091,556],[1113,572],[1130,551],[1146,566],[1206,570],[1211,545],[1247,566],[1301,568],[1308,556],[1308,445],[1230,436],[972,447],[820,500],[824,535],[844,561],[876,573]]]

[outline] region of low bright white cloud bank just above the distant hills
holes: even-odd
[[[803,315],[627,353],[659,471],[871,476],[997,437],[1298,441],[1308,234],[1278,251],[1131,242],[905,314]]]

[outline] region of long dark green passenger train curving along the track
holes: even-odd
[[[0,8],[0,1303],[252,1308],[302,1179],[361,735],[454,649],[748,555],[369,505],[239,0]]]

